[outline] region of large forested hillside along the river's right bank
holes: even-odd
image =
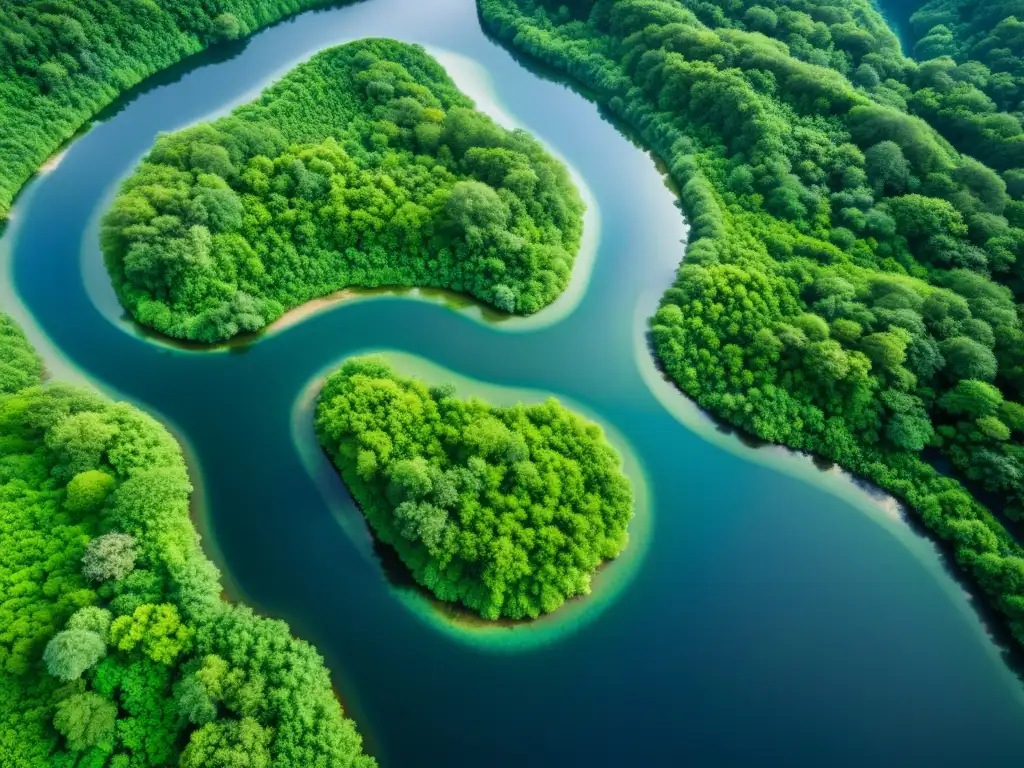
[[[679,184],[689,244],[651,321],[668,375],[729,422],[909,502],[1024,640],[1020,547],[933,468],[943,457],[1021,515],[1024,163],[958,153],[980,140],[953,135],[944,106],[914,106],[925,82],[979,100],[978,62],[901,56],[854,0],[479,6]]]

